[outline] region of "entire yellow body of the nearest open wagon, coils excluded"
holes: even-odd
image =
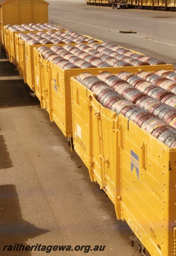
[[[175,255],[176,148],[102,107],[74,78],[74,149],[151,256]]]

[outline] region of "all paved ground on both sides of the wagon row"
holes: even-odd
[[[48,2],[53,24],[175,65],[175,13]],[[42,244],[106,246],[101,252],[50,255],[140,256],[129,244],[134,234],[127,223],[116,219],[114,205],[30,92],[0,52],[0,255],[45,255],[2,251],[4,245]]]

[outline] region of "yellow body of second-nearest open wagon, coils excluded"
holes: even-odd
[[[46,108],[49,112],[50,120],[54,121],[67,137],[73,137],[70,86],[70,78],[72,76],[77,76],[82,72],[89,72],[93,75],[97,75],[102,70],[112,74],[116,74],[119,71],[127,71],[134,74],[141,70],[141,68],[142,70],[151,72],[158,69],[173,70],[172,65],[64,70],[52,61],[48,62],[48,60],[45,60],[42,57],[42,54],[37,50],[38,47],[39,46],[33,48],[34,83],[31,88],[35,91],[39,100],[43,101],[41,106]],[[35,89],[33,88],[34,84]],[[49,103],[51,98],[47,92],[51,92],[52,103]]]

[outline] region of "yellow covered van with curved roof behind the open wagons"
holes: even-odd
[[[48,5],[44,0],[0,0],[0,44],[4,45],[3,27],[7,24],[48,22]]]

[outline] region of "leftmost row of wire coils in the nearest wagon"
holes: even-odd
[[[108,77],[110,76],[107,74]],[[105,74],[98,75],[99,77],[110,80],[113,87],[115,86],[114,76],[106,78]],[[160,120],[152,113],[144,111],[134,103],[123,98],[107,83],[103,82],[98,77],[95,77],[87,72],[81,73],[76,79],[86,86],[89,90],[96,94],[96,99],[106,108],[121,113],[125,117],[136,123],[141,129],[146,130],[155,138],[165,143],[168,147],[176,147],[176,130],[164,121]],[[122,83],[122,81],[120,81]],[[119,82],[119,83],[120,83]],[[117,83],[118,84],[118,83]],[[117,85],[118,87],[118,85]],[[120,86],[119,86],[120,87]],[[115,88],[115,87],[114,87]]]

